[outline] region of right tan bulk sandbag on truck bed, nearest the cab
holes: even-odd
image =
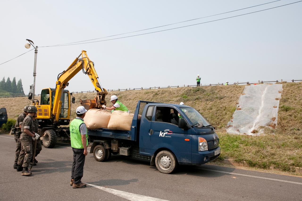
[[[113,111],[108,123],[108,129],[131,130],[133,116],[133,114],[129,114],[120,110]]]

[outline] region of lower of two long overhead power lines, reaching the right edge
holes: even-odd
[[[298,1],[298,2],[302,2],[302,1]],[[273,8],[279,8],[279,7],[282,7],[282,6],[291,5],[291,4],[298,3],[298,2],[293,2],[293,3],[281,5],[281,6],[276,6],[276,7],[273,7]],[[267,9],[263,9],[263,10],[260,10],[260,11],[266,11],[266,10],[270,10],[270,9],[273,9],[273,8],[267,8]],[[235,17],[238,17],[238,16],[243,16],[243,15],[247,15],[247,14],[257,13],[257,12],[260,12],[260,11],[254,11],[254,12],[250,12],[250,13],[235,15],[235,16],[232,16],[232,17],[221,18],[221,19],[218,19],[218,20],[212,20],[212,21],[202,22],[202,23],[198,23],[198,24],[205,24],[205,23],[209,23],[209,22],[220,21],[220,20],[225,20],[225,19],[229,19],[229,18],[235,18]],[[191,24],[191,25],[187,25],[187,26],[183,26],[183,27],[190,27],[190,26],[194,26],[194,25],[198,25],[198,24]],[[132,35],[132,36],[125,36],[125,37],[120,37],[120,38],[112,38],[112,39],[107,39],[107,40],[115,40],[115,39],[121,39],[121,38],[128,38],[128,37],[140,36],[140,35],[145,35],[145,34],[153,34],[153,33],[161,32],[161,31],[179,29],[179,28],[183,28],[183,27],[175,27],[175,28],[171,28],[171,29],[154,31],[154,32],[149,32],[149,33],[144,33],[144,34],[137,34],[137,35]],[[102,42],[102,41],[107,41],[107,40],[98,40],[98,41],[92,41],[92,42],[86,42],[86,43],[96,43],[96,42]],[[56,45],[56,46],[42,46],[42,47],[58,47],[58,46],[79,45],[79,44],[86,44],[86,43],[76,43],[76,44],[66,44],[66,45]]]

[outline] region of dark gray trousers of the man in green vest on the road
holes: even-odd
[[[73,163],[71,167],[71,179],[74,179],[73,183],[81,183],[83,177],[83,168],[85,163],[84,149],[72,148],[73,151]]]

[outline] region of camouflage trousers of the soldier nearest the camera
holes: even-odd
[[[31,157],[33,156],[33,145],[32,145],[32,137],[22,133],[20,136],[21,140],[21,152],[18,159],[18,165],[22,165],[22,167],[28,167],[29,162],[31,161]]]

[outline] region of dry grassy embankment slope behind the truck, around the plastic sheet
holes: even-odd
[[[246,161],[251,167],[288,172],[293,171],[292,166],[302,167],[302,82],[283,84],[276,129],[266,129],[262,136],[238,136],[225,132],[243,89],[243,85],[232,85],[114,91],[108,94],[106,100],[116,94],[130,112],[134,112],[138,100],[173,104],[182,101],[199,110],[217,128],[221,147],[219,159]],[[75,117],[76,107],[80,105],[78,100],[93,98],[95,94],[74,96],[76,104],[72,104],[72,118]],[[9,118],[14,119],[21,113],[22,107],[30,103],[24,97],[1,98],[0,101],[0,107],[6,107]]]

